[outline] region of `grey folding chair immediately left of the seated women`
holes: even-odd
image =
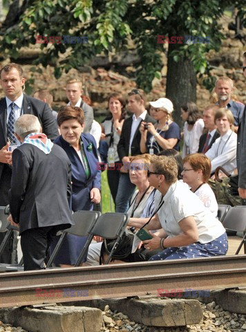
[[[105,263],[108,264],[108,262],[111,260],[113,252],[115,252],[118,244],[120,243],[120,240],[122,239],[122,235],[124,234],[124,230],[128,222],[129,216],[124,213],[108,212],[102,214],[102,216],[97,219],[97,223],[93,227],[93,230],[91,230],[90,235],[86,241],[82,252],[79,255],[79,258],[77,259],[75,266],[79,266],[81,264],[82,259],[84,259],[88,247],[90,246],[90,243],[95,235],[103,237],[104,239],[115,239],[115,244],[111,252],[109,253],[108,259]]]

